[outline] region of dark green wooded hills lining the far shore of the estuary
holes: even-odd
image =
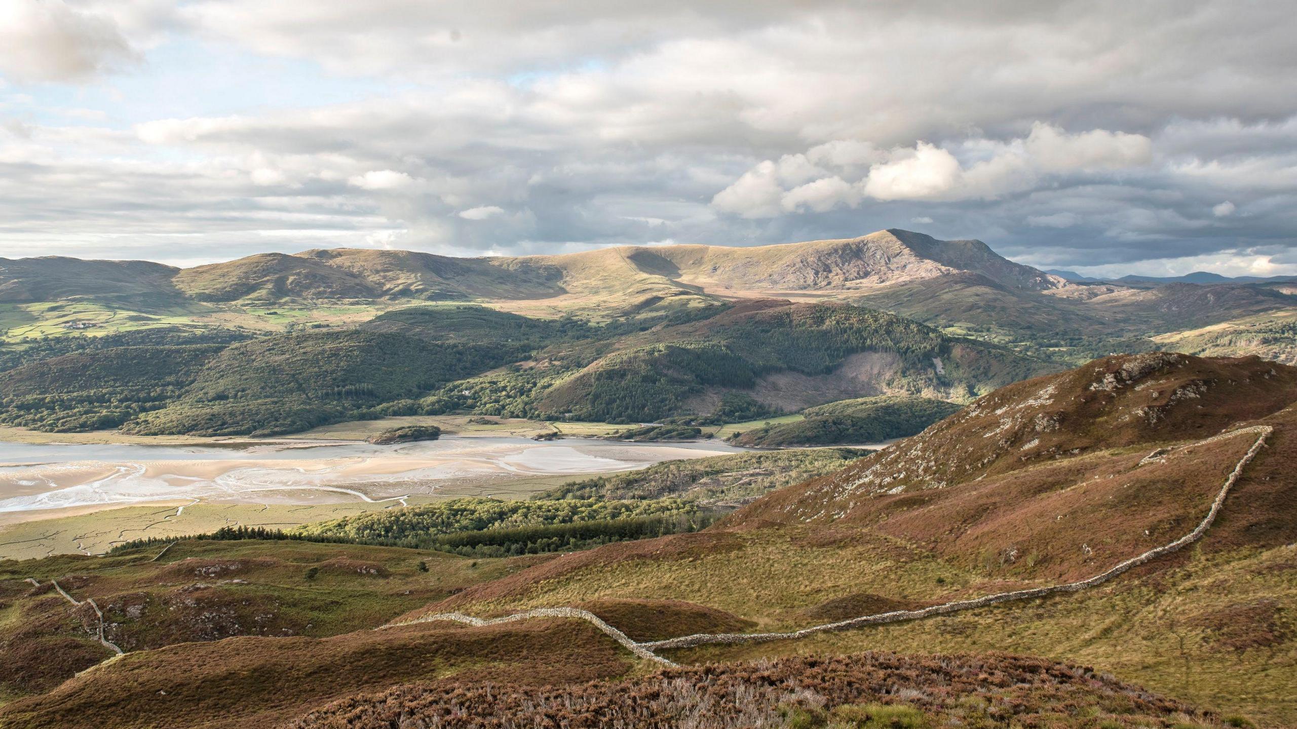
[[[202,349],[180,344],[189,335],[135,339],[31,348],[0,371],[0,422],[198,436],[381,415],[720,423],[887,392],[968,400],[1049,368],[869,309],[772,300],[602,324],[425,305]]]

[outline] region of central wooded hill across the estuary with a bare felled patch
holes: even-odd
[[[577,419],[645,422],[706,415],[728,392],[785,411],[887,392],[968,398],[1044,368],[869,309],[754,300],[628,337],[549,388],[537,407]]]

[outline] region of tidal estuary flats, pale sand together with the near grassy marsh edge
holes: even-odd
[[[265,442],[239,448],[3,442],[0,558],[44,553],[52,544],[67,540],[78,551],[101,551],[123,537],[192,533],[236,523],[294,525],[333,518],[336,508],[383,508],[455,496],[507,497],[516,496],[511,493],[515,490],[525,494],[556,485],[567,476],[630,471],[661,460],[741,450],[722,442],[537,442],[518,437],[444,437],[399,445]],[[240,505],[244,508],[235,512],[244,518],[218,519],[210,508],[200,508]],[[244,514],[249,506],[266,511]],[[294,507],[300,511],[294,512]],[[96,519],[109,516],[93,512],[108,508],[117,510],[112,528],[95,527]],[[248,519],[252,514],[258,518]],[[78,527],[71,531],[77,533],[64,533],[53,521],[73,516]],[[29,521],[49,524],[32,525],[22,531],[25,538],[16,538],[18,525]]]

